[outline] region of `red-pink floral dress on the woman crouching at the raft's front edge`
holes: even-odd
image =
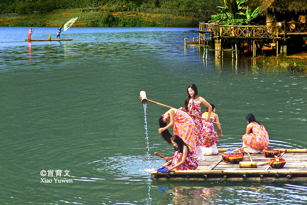
[[[194,170],[198,167],[198,159],[194,149],[188,148],[187,158],[185,159],[185,164],[182,164],[180,167],[175,168],[176,170]],[[172,162],[172,167],[181,162],[183,154],[176,151],[174,154],[174,159]]]

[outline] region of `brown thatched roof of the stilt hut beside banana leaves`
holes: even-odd
[[[267,13],[268,10],[278,13],[307,12],[307,0],[252,0],[259,1],[259,12]],[[249,1],[248,1],[249,2]]]

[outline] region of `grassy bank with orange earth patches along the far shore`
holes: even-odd
[[[146,14],[138,12],[109,13],[106,10],[99,12],[81,12],[72,9],[52,14],[41,14],[17,18],[0,18],[0,26],[63,26],[69,19],[78,17],[75,27],[198,27],[200,21],[208,21],[206,16],[175,15],[175,14]]]

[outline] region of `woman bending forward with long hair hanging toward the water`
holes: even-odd
[[[169,120],[169,124],[166,125]],[[174,135],[181,137],[186,144],[196,150],[195,123],[186,112],[171,108],[159,117],[159,125],[158,132],[169,144],[173,145],[170,139],[172,135],[169,133],[168,128],[173,127]],[[201,149],[200,151],[196,150],[196,152],[200,161],[205,160]]]

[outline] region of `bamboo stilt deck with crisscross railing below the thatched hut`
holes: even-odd
[[[223,58],[223,42],[226,39],[237,39],[241,42],[242,49],[252,53],[252,57],[257,57],[260,53],[262,46],[265,43],[274,43],[276,47],[276,55],[286,55],[286,46],[288,39],[293,37],[306,37],[307,36],[307,23],[301,22],[279,22],[275,26],[234,26],[234,25],[221,25],[217,23],[199,23],[199,45],[208,45],[208,37],[214,41],[215,56]],[[245,43],[244,43],[245,42]],[[244,52],[242,53],[244,55]]]

